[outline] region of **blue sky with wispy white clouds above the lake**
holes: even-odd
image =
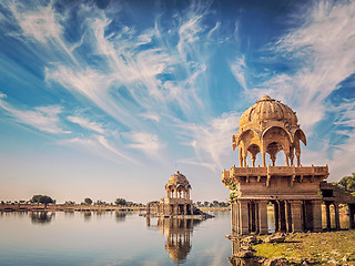
[[[179,170],[194,201],[226,201],[232,135],[265,94],[296,112],[302,164],[338,181],[355,172],[354,24],[355,1],[3,0],[0,200],[146,203]]]

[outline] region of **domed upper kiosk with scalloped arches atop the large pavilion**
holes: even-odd
[[[276,154],[285,153],[285,165],[293,165],[294,155],[297,157],[297,166],[301,166],[300,141],[306,145],[306,136],[297,124],[297,116],[291,108],[263,96],[254,105],[248,108],[240,119],[240,129],[233,135],[233,150],[239,146],[241,167],[246,167],[247,154],[251,155],[253,167],[256,155],[262,154],[263,166],[266,153],[275,166]]]

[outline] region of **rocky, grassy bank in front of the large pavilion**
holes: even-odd
[[[232,265],[355,265],[355,229],[226,236]]]

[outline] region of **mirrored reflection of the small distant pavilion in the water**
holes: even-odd
[[[165,250],[173,263],[184,263],[192,248],[191,236],[193,228],[202,221],[172,217],[160,217],[156,221],[156,225],[152,225],[151,218],[146,217],[146,226],[149,228],[158,228],[165,236]]]

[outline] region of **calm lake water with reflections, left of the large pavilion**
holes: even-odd
[[[0,265],[230,265],[230,212],[206,221],[134,213],[1,213]]]

